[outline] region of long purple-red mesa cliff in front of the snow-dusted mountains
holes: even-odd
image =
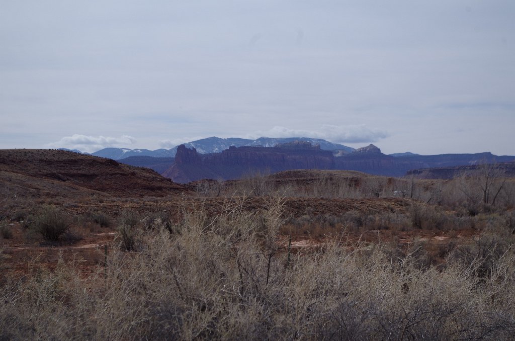
[[[508,162],[515,157],[490,153],[393,157],[374,145],[349,154],[334,154],[309,142],[294,141],[275,147],[230,147],[221,153],[199,154],[184,145],[177,148],[175,163],[163,176],[187,183],[201,179],[238,179],[252,172],[276,173],[289,169],[340,169],[374,175],[401,177],[410,169]]]

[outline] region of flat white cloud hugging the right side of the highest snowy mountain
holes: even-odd
[[[261,136],[270,138],[306,137],[328,140],[335,143],[371,143],[389,136],[388,132],[367,128],[365,125],[334,126],[324,124],[318,130],[289,129],[275,126],[266,131],[257,131],[252,138]]]

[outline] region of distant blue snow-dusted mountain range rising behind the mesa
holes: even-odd
[[[259,138],[256,140],[250,139],[239,139],[239,138],[228,138],[221,139],[217,137],[211,137],[207,139],[201,139],[197,141],[187,142],[184,145],[187,148],[195,148],[199,154],[210,154],[216,152],[222,152],[229,147],[245,147],[245,146],[261,146],[261,147],[273,147],[281,143],[288,143],[293,141],[305,141],[312,145],[320,145],[322,150],[338,150],[343,154],[354,151],[354,148],[344,146],[342,144],[332,143],[322,139],[312,138]],[[88,154],[81,152],[77,149],[66,149],[60,148],[61,150],[75,151],[80,154]],[[128,149],[128,148],[104,148],[95,151],[91,155],[99,156],[102,158],[108,158],[113,160],[122,160],[133,156],[150,156],[154,158],[174,158],[177,153],[177,146],[171,149]]]

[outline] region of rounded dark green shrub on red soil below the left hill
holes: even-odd
[[[70,227],[70,218],[52,206],[40,209],[31,224],[31,228],[49,242],[58,241]]]

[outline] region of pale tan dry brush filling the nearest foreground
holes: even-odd
[[[185,210],[174,233],[147,230],[139,252],[112,249],[87,280],[64,262],[53,272],[35,268],[5,280],[0,339],[511,339],[515,333],[515,252],[506,226],[491,226],[477,245],[455,250],[437,268],[423,242],[401,248],[340,237],[308,253],[280,252],[282,201],[269,199],[259,216],[243,206],[228,201],[214,218],[201,207]]]

